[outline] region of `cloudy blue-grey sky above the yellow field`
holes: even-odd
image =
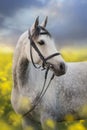
[[[0,0],[0,43],[16,44],[37,16],[57,44],[87,44],[87,0]]]

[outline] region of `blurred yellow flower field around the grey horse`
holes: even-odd
[[[87,61],[87,49],[61,50],[66,61]],[[12,58],[11,47],[0,47],[0,129],[1,130],[22,130],[21,116],[15,114],[12,109],[10,97],[12,89]],[[69,116],[70,118],[70,116]],[[70,118],[71,119],[71,118]],[[71,120],[72,121],[72,120]],[[85,120],[58,123],[59,130],[86,130]],[[53,122],[47,122],[49,128],[53,128]],[[29,128],[32,129],[32,128]],[[29,130],[28,129],[28,130]]]

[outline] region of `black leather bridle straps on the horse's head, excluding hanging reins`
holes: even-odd
[[[41,27],[41,26],[38,26],[36,30],[38,30],[37,32],[39,32],[37,35],[47,35],[47,34],[50,35],[50,33],[49,33],[45,28],[43,28],[43,27]],[[43,30],[44,32],[40,32],[40,30]],[[35,33],[35,32],[34,32],[34,33]],[[36,44],[34,43],[34,41],[33,41],[33,39],[32,39],[34,33],[33,33],[32,36],[31,36],[30,31],[29,31],[30,56],[31,56],[32,63],[33,63],[33,65],[34,65],[34,67],[37,68],[37,69],[41,67],[41,66],[37,67],[37,66],[35,65],[35,63],[34,63],[33,56],[32,56],[32,47],[33,47],[34,50],[35,50],[35,51],[37,52],[37,54],[39,55],[40,59],[42,60],[42,67],[43,67],[43,69],[45,69],[45,67],[47,68],[48,66],[51,67],[51,64],[48,63],[47,60],[49,60],[49,59],[51,59],[51,58],[53,58],[53,57],[55,57],[55,56],[60,55],[60,53],[54,53],[54,54],[52,54],[52,55],[50,55],[50,56],[44,58],[44,56],[42,55],[42,53],[40,52],[40,50],[38,49],[38,47],[36,46]]]

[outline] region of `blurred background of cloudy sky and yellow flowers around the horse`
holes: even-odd
[[[69,62],[87,61],[87,0],[0,0],[0,129],[22,130],[21,116],[12,109],[12,59],[19,36],[35,18],[48,16],[47,29]],[[87,114],[87,106],[82,110]],[[59,123],[60,130],[86,130],[87,121]],[[53,122],[48,122],[52,129]],[[27,130],[33,130],[28,128]]]

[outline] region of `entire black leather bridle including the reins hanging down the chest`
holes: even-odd
[[[41,32],[41,30],[43,32]],[[29,40],[30,40],[30,57],[31,57],[32,64],[33,64],[33,66],[36,69],[40,69],[42,67],[41,70],[46,70],[45,71],[45,80],[44,80],[44,84],[43,84],[43,87],[42,87],[42,90],[41,90],[40,94],[38,95],[38,97],[36,97],[35,101],[33,102],[34,105],[32,106],[32,108],[28,112],[26,112],[23,115],[23,117],[27,116],[28,114],[30,114],[30,112],[32,112],[36,108],[36,106],[41,101],[41,99],[44,96],[44,94],[46,93],[46,91],[47,91],[47,89],[48,89],[51,81],[54,78],[54,73],[53,73],[52,76],[51,76],[51,78],[50,78],[50,81],[49,81],[48,85],[46,86],[48,72],[49,72],[50,69],[52,69],[52,65],[49,62],[47,62],[47,61],[49,59],[55,57],[55,56],[60,55],[60,53],[54,53],[54,54],[52,54],[52,55],[50,55],[50,56],[48,56],[48,57],[45,58],[42,55],[42,53],[40,52],[40,50],[38,49],[38,47],[36,46],[35,42],[33,41],[33,36],[34,35],[36,35],[36,36],[37,35],[49,35],[50,36],[50,33],[45,28],[43,28],[42,26],[37,26],[35,32],[32,35],[31,35],[30,31],[29,31],[29,37],[28,37]],[[32,48],[37,52],[37,54],[39,55],[40,59],[42,60],[42,65],[39,66],[39,67],[36,66],[36,64],[34,63],[33,55],[32,55]]]

